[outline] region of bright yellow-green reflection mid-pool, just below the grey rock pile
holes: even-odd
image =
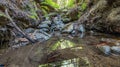
[[[71,48],[74,47],[75,44],[69,40],[61,39],[57,41],[54,45],[51,46],[51,50],[57,50],[57,49],[65,49],[65,48]]]

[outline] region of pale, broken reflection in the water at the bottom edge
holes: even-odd
[[[90,67],[90,62],[87,57],[73,58],[55,63],[39,65],[39,67],[81,67],[81,66]]]

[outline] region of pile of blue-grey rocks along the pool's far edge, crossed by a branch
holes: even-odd
[[[52,36],[62,36],[64,33],[72,37],[79,36],[83,38],[85,28],[82,24],[77,25],[76,22],[65,24],[61,16],[58,15],[53,17],[53,19],[46,17],[36,28],[27,28],[24,29],[24,32],[36,42],[43,42],[50,39]],[[30,43],[18,32],[15,33],[15,36],[16,38],[11,42],[14,45],[10,45],[14,48],[19,48],[20,46],[25,46]]]

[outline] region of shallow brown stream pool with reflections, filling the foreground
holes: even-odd
[[[97,32],[83,38],[52,37],[45,42],[0,50],[0,64],[7,67],[120,67],[119,44],[120,37]]]

